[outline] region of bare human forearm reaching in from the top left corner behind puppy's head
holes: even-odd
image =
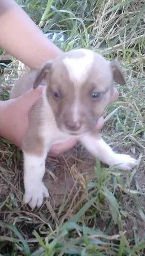
[[[13,0],[0,1],[0,23],[0,46],[30,68],[61,54]]]

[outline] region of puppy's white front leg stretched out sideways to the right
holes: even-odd
[[[84,135],[80,140],[85,148],[109,166],[117,165],[122,170],[130,170],[137,164],[136,159],[129,155],[116,154],[101,138],[100,134],[90,133]]]

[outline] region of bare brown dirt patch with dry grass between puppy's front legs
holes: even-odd
[[[47,157],[45,186],[51,195],[53,207],[59,207],[63,199],[71,200],[81,186],[94,176],[95,159],[79,144],[57,158]]]

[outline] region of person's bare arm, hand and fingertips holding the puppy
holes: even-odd
[[[0,23],[3,24],[0,28],[0,47],[30,68],[39,68],[45,61],[57,58],[62,53],[13,0],[0,1]],[[13,24],[12,29],[10,29],[11,24]],[[39,86],[36,90],[30,90],[17,99],[0,101],[1,137],[21,147],[22,139],[29,126],[29,110],[42,96],[42,90],[43,87]],[[118,92],[114,88],[110,103],[117,98]],[[103,117],[101,117],[95,130],[100,130],[103,123]],[[75,143],[76,140],[71,140],[54,145],[50,154],[58,155]]]

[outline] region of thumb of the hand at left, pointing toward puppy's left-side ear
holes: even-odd
[[[24,110],[29,110],[37,99],[41,98],[44,86],[39,85],[36,89],[30,89],[22,94],[17,100]]]

